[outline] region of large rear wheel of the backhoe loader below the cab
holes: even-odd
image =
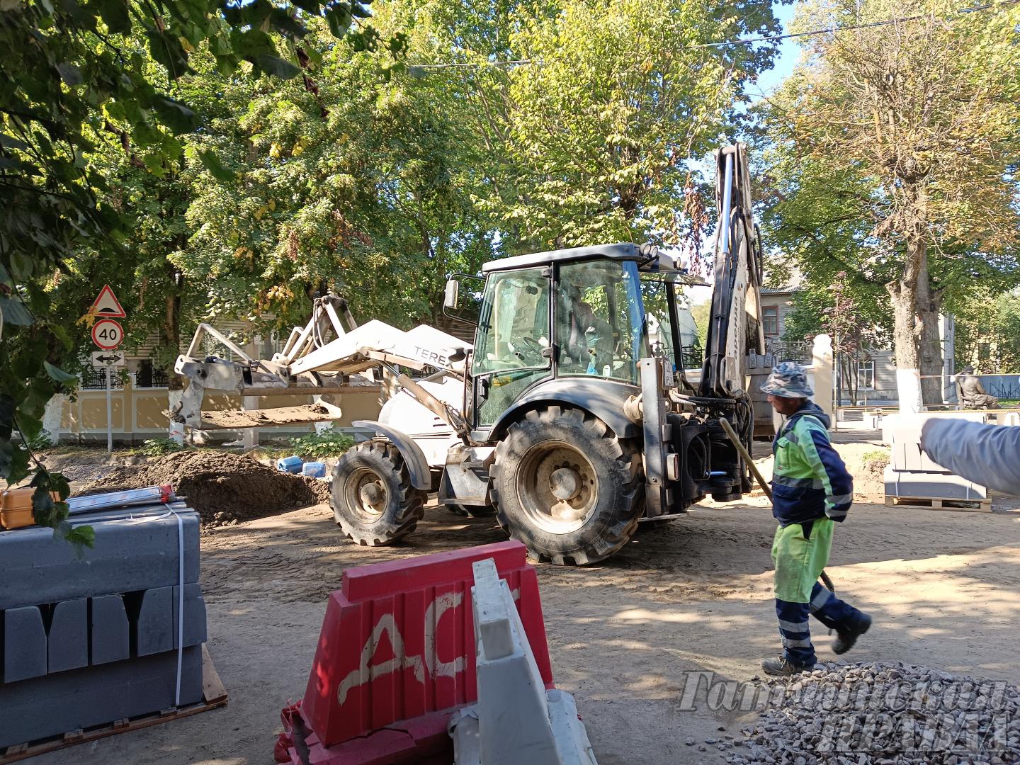
[[[527,412],[496,447],[490,469],[500,525],[556,565],[608,558],[645,507],[639,442],[580,409]]]

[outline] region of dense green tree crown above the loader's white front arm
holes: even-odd
[[[373,22],[394,24],[390,9]],[[310,39],[326,39],[318,24]],[[422,30],[409,39],[419,57]],[[352,45],[325,51],[309,90],[231,80],[224,114],[192,141],[189,248],[172,260],[208,284],[209,311],[304,321],[329,289],[355,317],[445,326],[446,278],[493,257],[475,210],[476,142],[442,80],[380,71]],[[222,158],[223,172],[199,161]]]

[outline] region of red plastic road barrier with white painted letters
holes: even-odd
[[[477,699],[471,564],[493,558],[517,602],[547,687],[546,626],[534,569],[519,542],[344,572],[329,596],[301,716],[323,747]],[[445,734],[445,733],[444,733]]]

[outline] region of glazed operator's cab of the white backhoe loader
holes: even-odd
[[[639,361],[650,356],[682,370],[681,291],[703,283],[655,248],[557,250],[486,270],[468,413],[479,436],[545,382],[605,380],[623,391],[639,386]]]

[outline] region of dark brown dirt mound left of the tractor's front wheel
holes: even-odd
[[[82,494],[169,483],[202,516],[204,525],[226,525],[329,501],[325,481],[282,473],[231,452],[188,450],[124,465]]]

